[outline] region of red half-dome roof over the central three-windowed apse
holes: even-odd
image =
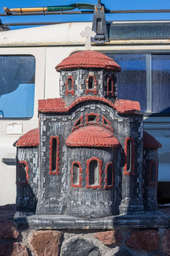
[[[117,147],[119,141],[108,129],[99,125],[87,125],[73,131],[65,144],[69,147]]]

